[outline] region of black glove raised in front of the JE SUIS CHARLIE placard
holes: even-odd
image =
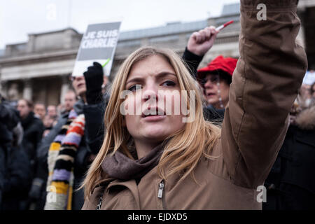
[[[98,104],[102,102],[103,67],[97,62],[87,68],[83,73],[86,85],[87,104]]]

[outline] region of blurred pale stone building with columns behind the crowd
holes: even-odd
[[[302,20],[299,41],[307,51],[309,66],[315,66],[315,1],[300,0],[298,13]],[[223,7],[221,16],[197,22],[172,22],[162,27],[123,31],[120,33],[110,80],[118,67],[131,52],[144,45],[171,48],[182,55],[188,38],[194,31],[209,25],[219,26],[229,20],[232,25],[223,29],[216,42],[207,52],[200,66],[205,66],[218,55],[239,57],[238,38],[240,31],[239,4]],[[0,92],[7,99],[31,99],[46,106],[62,102],[71,88],[76,54],[83,34],[68,28],[40,34],[29,34],[26,43],[6,45],[0,50]]]

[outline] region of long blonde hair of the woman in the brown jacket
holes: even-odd
[[[97,157],[92,162],[82,185],[85,188],[85,198],[87,199],[99,183],[109,178],[109,176],[104,174],[101,167],[107,155],[113,155],[120,149],[129,158],[133,158],[130,153],[132,137],[128,133],[127,128],[124,127],[123,115],[120,113],[120,104],[123,103],[123,99],[120,99],[120,94],[125,90],[127,76],[132,66],[152,55],[160,55],[171,64],[179,80],[181,90],[187,90],[188,92],[188,102],[190,100],[189,90],[195,91],[195,120],[191,123],[186,123],[183,130],[179,130],[165,139],[168,141],[158,164],[159,175],[163,179],[167,179],[168,176],[179,173],[181,178],[184,179],[188,174],[193,175],[193,170],[200,158],[202,158],[202,155],[206,158],[214,159],[209,153],[221,130],[216,125],[204,120],[202,92],[197,81],[191,76],[190,71],[188,71],[179,55],[176,55],[172,50],[153,47],[139,48],[125,59],[113,80],[111,97],[104,117],[106,127],[104,142]],[[166,170],[167,172],[165,172]],[[194,176],[193,178],[195,179]]]

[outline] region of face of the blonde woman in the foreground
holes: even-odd
[[[181,100],[179,80],[164,57],[152,55],[134,64],[125,90],[131,91],[125,105],[133,105],[134,108],[134,115],[125,115],[125,125],[134,141],[158,143],[184,127],[181,113],[174,113],[176,106],[179,106],[174,102]],[[141,114],[135,113],[137,109]],[[169,109],[172,109],[172,114],[169,114]]]

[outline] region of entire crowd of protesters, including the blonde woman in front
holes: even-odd
[[[272,4],[296,10],[294,1]],[[314,209],[315,83],[301,86],[300,26],[270,13],[274,27],[265,27],[251,7],[241,1],[239,59],[220,55],[198,69],[218,34],[206,27],[181,58],[133,52],[111,84],[94,62],[71,77],[59,106],[1,97],[0,209]],[[161,100],[158,90],[195,91],[195,120],[123,116],[120,93],[135,96],[137,85],[143,102]]]

